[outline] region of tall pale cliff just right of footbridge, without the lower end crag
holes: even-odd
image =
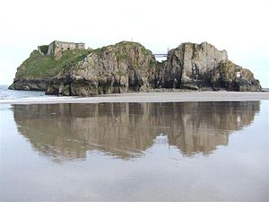
[[[169,51],[159,84],[165,88],[196,90],[201,86],[210,86],[211,72],[227,58],[225,50],[219,51],[206,42],[200,45],[183,43]]]

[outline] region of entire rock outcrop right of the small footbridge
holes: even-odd
[[[171,49],[167,61],[158,68],[155,87],[199,90],[261,91],[259,82],[247,69],[228,60],[226,50],[209,43],[183,43]]]

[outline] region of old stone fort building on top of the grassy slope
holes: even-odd
[[[85,43],[54,40],[49,45],[39,46],[38,49],[40,54],[59,57],[62,55],[62,51],[65,50],[85,49]]]

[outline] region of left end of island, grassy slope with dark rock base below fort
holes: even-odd
[[[86,57],[90,50],[74,49],[61,53],[61,57],[46,55],[40,50],[30,53],[21,66],[17,68],[13,84],[9,89],[25,91],[46,91],[48,83],[65,68],[70,68]]]

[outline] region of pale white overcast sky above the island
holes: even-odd
[[[1,0],[0,9],[0,84],[53,40],[90,48],[133,40],[153,53],[207,41],[269,87],[268,0]]]

